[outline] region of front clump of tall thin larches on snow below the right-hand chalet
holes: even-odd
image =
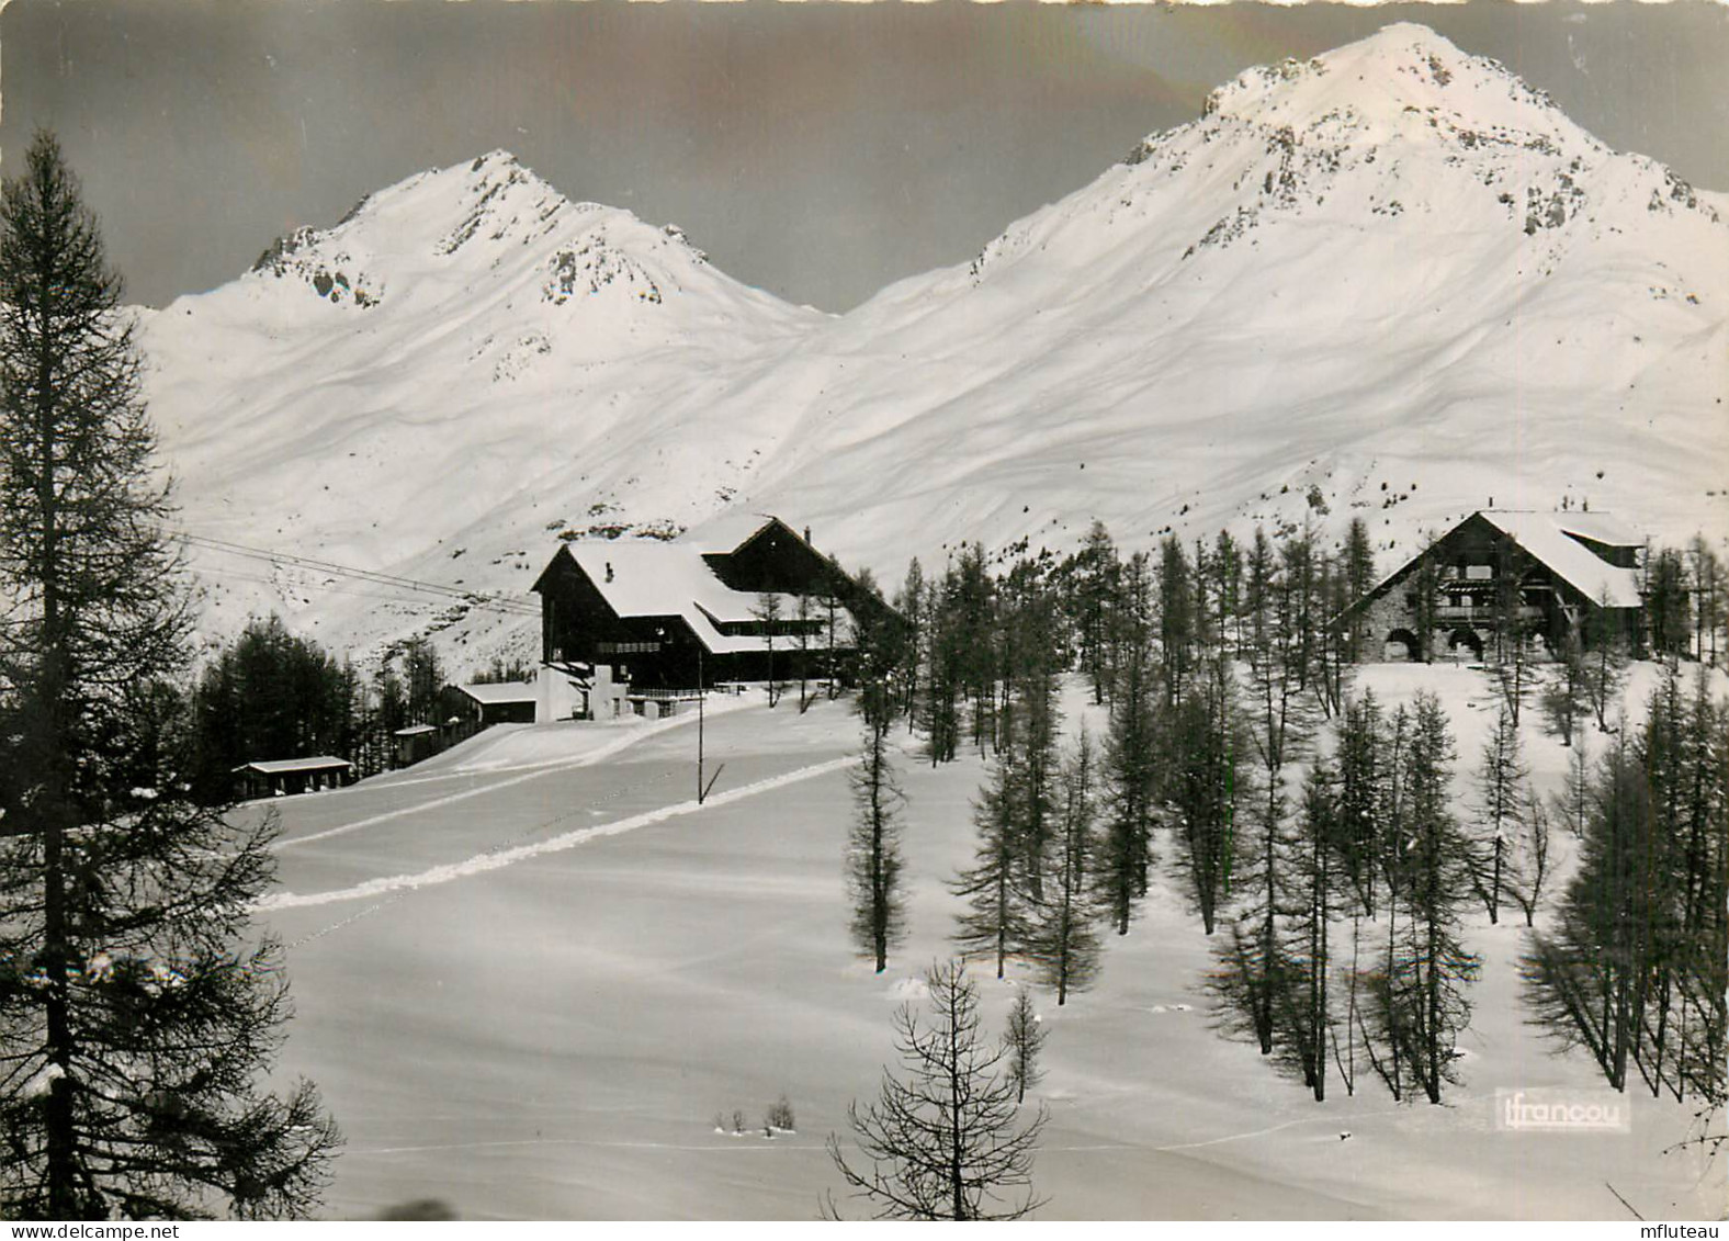
[[[1395,1098],[1439,1103],[1477,973],[1459,939],[1470,852],[1445,712],[1420,693],[1387,717],[1364,693],[1337,731],[1290,811],[1266,799],[1254,824],[1212,982],[1221,1021],[1316,1099],[1335,1072],[1354,1092],[1369,1066]]]

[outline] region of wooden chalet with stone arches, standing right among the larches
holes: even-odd
[[[1522,640],[1539,640],[1551,652],[1561,650],[1570,631],[1587,646],[1605,633],[1636,645],[1644,607],[1641,546],[1608,513],[1485,508],[1340,619],[1361,626],[1369,659],[1477,657],[1509,615]]]

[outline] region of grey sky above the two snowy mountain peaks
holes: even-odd
[[[1421,21],[1610,145],[1729,188],[1729,7],[12,0],[0,171],[59,131],[130,296],[493,147],[847,309],[961,263],[1250,64]]]

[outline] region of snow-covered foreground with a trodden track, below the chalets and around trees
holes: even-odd
[[[1468,795],[1492,716],[1482,674],[1387,665],[1361,684],[1442,697]],[[1069,695],[1070,729],[1082,703]],[[439,1198],[465,1217],[809,1219],[837,1186],[823,1139],[875,1092],[894,1006],[947,952],[944,881],[970,859],[984,766],[906,757],[911,939],[877,977],[845,933],[845,703],[709,717],[709,769],[724,767],[702,807],[693,721],[626,729],[591,761],[614,735],[482,735],[469,759],[526,761],[453,752],[443,773],[277,804],[284,890],[265,918],[290,944],[299,1009],[284,1070],[313,1077],[348,1134],[330,1215]],[[1535,721],[1525,738],[1553,786],[1565,752]],[[1610,1186],[1646,1219],[1720,1213],[1722,1167],[1662,1155],[1686,1132],[1674,1104],[1629,1092],[1627,1134],[1496,1129],[1497,1089],[1599,1079],[1525,1025],[1522,930],[1478,918],[1466,942],[1483,973],[1445,1106],[1395,1104],[1368,1073],[1316,1104],[1212,1032],[1207,940],[1162,876],[1094,990],[1062,1011],[1037,996],[1041,1217],[1625,1219]],[[999,1027],[1011,985],[980,983]],[[769,1141],[782,1094],[797,1132]],[[716,1132],[735,1110],[757,1134]]]

